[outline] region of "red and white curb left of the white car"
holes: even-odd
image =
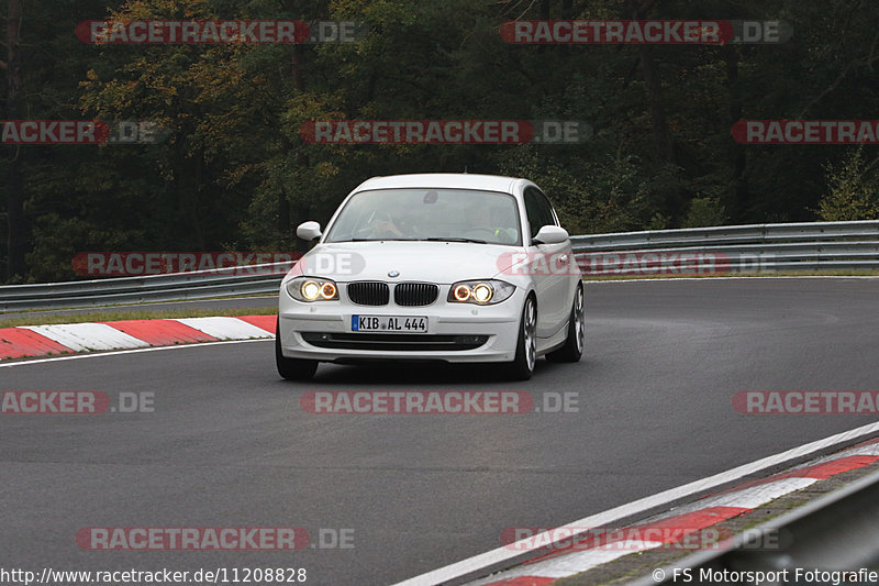
[[[125,320],[0,329],[0,361],[275,336],[275,316]]]

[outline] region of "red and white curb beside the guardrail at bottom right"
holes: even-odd
[[[545,586],[625,555],[674,545],[697,531],[750,512],[819,480],[868,466],[877,461],[879,461],[879,440],[870,440],[790,471],[709,495],[693,504],[654,517],[645,523],[613,530],[614,534],[621,534],[623,538],[611,539],[593,548],[586,542],[586,545],[575,544],[567,551],[564,549],[553,551],[511,570],[469,582],[467,586]],[[625,535],[663,535],[665,539],[649,541],[625,539]]]

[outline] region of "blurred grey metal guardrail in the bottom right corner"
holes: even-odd
[[[656,584],[719,584],[717,576],[737,572],[778,575],[788,571],[786,584],[868,584],[857,575],[879,564],[879,473],[874,473],[825,495],[802,508],[737,535],[728,549],[702,552],[635,581],[635,586]],[[780,537],[780,538],[779,538]],[[774,546],[766,544],[771,542]],[[691,579],[682,571],[689,568]],[[795,576],[797,570],[849,572],[849,578],[832,582]],[[661,573],[659,573],[661,572]],[[741,575],[741,574],[739,574]],[[752,574],[755,575],[755,574]],[[657,579],[658,576],[663,576]],[[776,583],[767,579],[764,584]]]

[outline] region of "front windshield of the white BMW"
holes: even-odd
[[[468,189],[379,189],[352,197],[325,242],[461,241],[521,245],[516,201]]]

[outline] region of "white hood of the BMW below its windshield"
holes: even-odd
[[[469,242],[341,242],[319,244],[288,273],[336,281],[418,280],[452,284],[486,279],[505,272],[518,246]],[[392,277],[389,273],[399,273]],[[501,277],[502,278],[502,277]]]

